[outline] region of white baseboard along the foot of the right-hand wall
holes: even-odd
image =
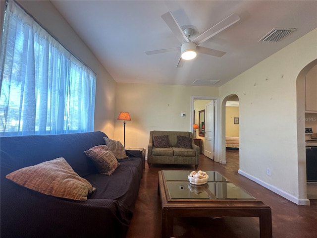
[[[309,199],[303,199],[303,198],[298,198],[293,196],[292,194],[289,194],[287,192],[285,192],[284,190],[281,190],[278,187],[275,187],[271,184],[268,184],[258,178],[253,177],[252,175],[249,175],[248,173],[245,173],[241,170],[238,170],[238,174],[251,179],[252,181],[255,181],[256,183],[260,184],[261,186],[264,186],[265,188],[271,190],[272,192],[275,192],[276,194],[286,198],[287,200],[294,202],[297,205],[305,205],[305,206],[309,206],[310,205],[310,200]]]

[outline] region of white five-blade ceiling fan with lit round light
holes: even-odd
[[[181,46],[155,50],[155,51],[147,51],[145,53],[147,55],[154,55],[154,54],[160,54],[165,52],[177,51],[180,49],[181,57],[178,60],[176,67],[182,67],[185,60],[194,59],[197,53],[206,54],[206,55],[215,56],[215,57],[222,57],[224,54],[226,54],[225,52],[214,50],[211,48],[202,47],[199,45],[240,20],[240,17],[236,13],[233,13],[230,16],[223,19],[222,21],[220,21],[219,23],[212,26],[203,34],[196,37],[194,40],[190,40],[190,36],[194,34],[194,29],[186,28],[182,30],[182,28],[177,23],[175,17],[170,11],[161,15],[161,18],[165,21],[167,26],[172,30],[174,35],[177,37],[178,41],[181,43]]]

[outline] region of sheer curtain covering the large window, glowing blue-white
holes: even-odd
[[[11,0],[0,73],[1,136],[94,130],[96,74]]]

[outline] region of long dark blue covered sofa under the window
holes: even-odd
[[[111,176],[98,174],[84,154],[105,144],[101,131],[62,135],[0,138],[1,238],[123,238],[132,219],[142,176],[142,152],[129,158]],[[87,201],[45,195],[5,176],[17,169],[63,157],[81,177],[96,187]]]

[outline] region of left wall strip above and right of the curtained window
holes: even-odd
[[[116,82],[50,1],[20,0],[19,4],[97,74],[95,130],[113,137]]]

